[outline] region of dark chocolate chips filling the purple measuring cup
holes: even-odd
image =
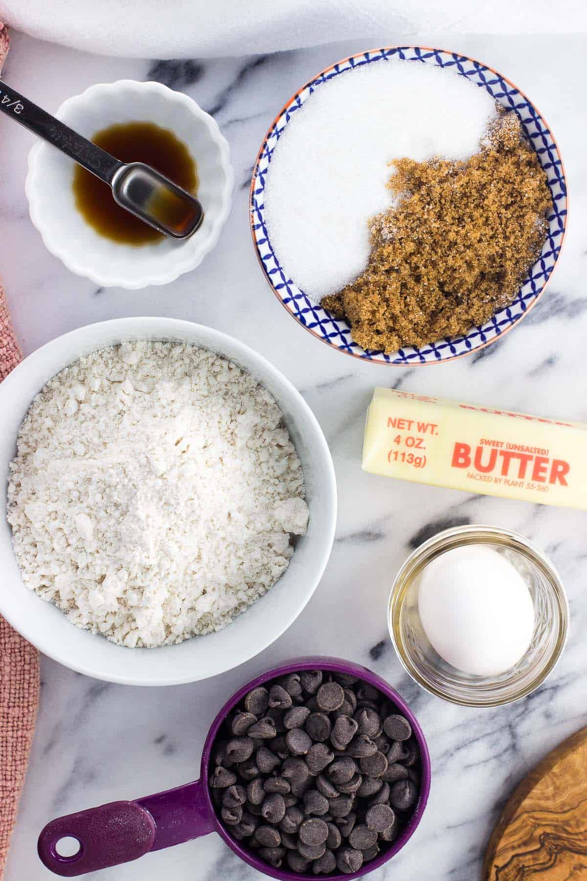
[[[214,744],[209,786],[227,832],[275,868],[358,871],[418,801],[420,752],[395,710],[362,680],[321,670],[253,688]]]

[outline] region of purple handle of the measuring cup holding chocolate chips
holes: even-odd
[[[37,848],[41,862],[55,875],[77,877],[199,838],[215,826],[207,781],[196,780],[135,802],[110,802],[51,820]],[[77,840],[77,853],[57,852],[63,838]]]

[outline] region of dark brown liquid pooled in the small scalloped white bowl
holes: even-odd
[[[188,193],[197,192],[198,174],[187,145],[154,122],[123,122],[97,131],[94,144],[121,162],[144,162]],[[108,184],[76,166],[73,193],[77,210],[97,233],[125,245],[144,245],[165,238],[114,201]]]

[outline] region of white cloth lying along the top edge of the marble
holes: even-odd
[[[577,33],[584,0],[0,0],[0,21],[104,55],[255,55],[420,33]],[[366,43],[369,45],[369,43]]]

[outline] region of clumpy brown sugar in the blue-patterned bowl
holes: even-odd
[[[371,220],[366,270],[321,305],[365,349],[396,352],[465,334],[508,306],[552,207],[547,174],[514,113],[463,161],[395,159],[389,211]]]

